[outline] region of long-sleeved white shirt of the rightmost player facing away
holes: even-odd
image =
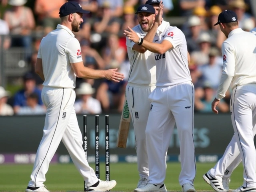
[[[256,83],[256,36],[241,28],[232,30],[222,44],[223,70],[217,99],[225,96],[229,86]]]

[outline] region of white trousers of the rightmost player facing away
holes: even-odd
[[[234,136],[228,144],[222,158],[210,175],[218,180],[229,178],[242,161],[244,166],[244,187],[256,187],[256,84],[247,84],[234,88],[230,100],[231,120]]]

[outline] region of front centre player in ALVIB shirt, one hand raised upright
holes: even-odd
[[[162,11],[163,4],[160,3],[154,25],[161,24]],[[156,29],[152,27],[150,32],[156,32]],[[131,28],[129,31],[125,30],[124,34],[128,39],[154,52],[156,60],[156,88],[149,96],[151,106],[146,126],[149,182],[145,187],[134,191],[166,191],[166,155],[176,123],[180,139],[179,182],[182,191],[195,192],[194,86],[188,69],[186,38],[180,29],[173,26],[168,26],[158,34],[159,43],[140,38]]]

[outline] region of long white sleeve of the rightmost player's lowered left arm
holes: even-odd
[[[216,99],[225,97],[235,73],[235,54],[234,49],[228,42],[222,44],[223,69],[220,78]]]

